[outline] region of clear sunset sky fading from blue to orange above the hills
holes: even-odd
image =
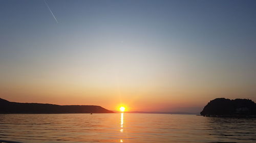
[[[0,98],[14,102],[256,102],[256,1],[0,0],[0,69]]]

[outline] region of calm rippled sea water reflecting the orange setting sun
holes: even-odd
[[[256,142],[256,119],[140,113],[0,114],[0,139],[22,142]]]

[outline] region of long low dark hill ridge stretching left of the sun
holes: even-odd
[[[113,113],[95,105],[17,103],[0,98],[0,113]]]

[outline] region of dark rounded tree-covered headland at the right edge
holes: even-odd
[[[256,104],[249,99],[225,99],[211,100],[201,111],[203,116],[236,116],[256,115]]]

